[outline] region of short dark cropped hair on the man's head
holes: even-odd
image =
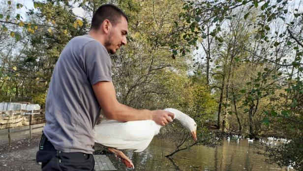
[[[100,25],[105,19],[108,19],[112,25],[116,25],[120,22],[120,18],[123,16],[128,22],[128,17],[124,12],[113,4],[103,4],[93,14],[91,19],[91,29],[99,29]]]

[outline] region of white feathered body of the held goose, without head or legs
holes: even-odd
[[[143,151],[161,126],[152,120],[119,122],[104,120],[94,128],[95,142],[117,149]]]

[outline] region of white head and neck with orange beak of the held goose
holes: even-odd
[[[164,110],[174,113],[175,117],[173,119],[178,120],[190,132],[191,137],[195,141],[197,140],[197,124],[191,117],[174,108],[166,108]]]

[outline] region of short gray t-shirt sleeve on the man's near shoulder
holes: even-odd
[[[112,81],[112,63],[104,46],[91,41],[83,47],[84,70],[91,85],[99,81]]]

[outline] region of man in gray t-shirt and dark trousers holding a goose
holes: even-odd
[[[92,130],[100,107],[108,119],[121,122],[154,120],[159,125],[174,115],[164,110],[137,110],[119,103],[108,54],[126,44],[127,17],[112,4],[100,6],[88,35],[71,39],[63,49],[49,86],[37,162],[43,171],[91,171]]]

